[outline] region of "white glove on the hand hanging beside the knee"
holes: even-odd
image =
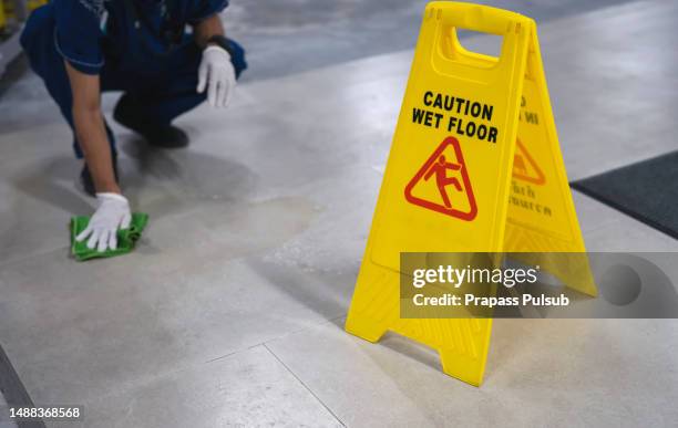
[[[227,107],[235,85],[235,69],[230,63],[230,54],[219,46],[207,46],[203,51],[203,60],[198,67],[197,92],[202,94],[207,87],[209,105]]]

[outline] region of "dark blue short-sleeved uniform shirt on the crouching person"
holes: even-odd
[[[135,12],[131,13],[130,6]],[[168,49],[193,43],[185,32],[187,24],[226,6],[228,0],[54,0],[54,42],[59,53],[86,74],[99,74],[107,60],[126,67],[151,66],[162,62]],[[163,35],[167,28],[179,32],[172,48]]]

